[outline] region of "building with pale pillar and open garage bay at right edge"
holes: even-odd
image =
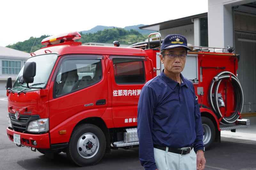
[[[240,54],[237,74],[244,92],[242,113],[256,112],[256,10],[243,5],[252,2],[255,0],[208,0],[209,47],[230,45]]]

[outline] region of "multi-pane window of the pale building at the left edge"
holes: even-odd
[[[19,74],[20,69],[20,61],[2,61],[2,74]]]

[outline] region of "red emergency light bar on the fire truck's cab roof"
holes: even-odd
[[[78,32],[68,32],[68,33],[60,33],[58,35],[52,35],[50,37],[46,37],[41,41],[42,45],[46,45],[46,47],[51,45],[56,45],[64,42],[73,42],[74,45],[81,45],[81,42],[74,42],[74,40],[80,39],[81,35]]]

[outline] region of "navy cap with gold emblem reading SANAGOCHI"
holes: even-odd
[[[175,47],[184,47],[187,50],[191,50],[188,48],[187,39],[184,36],[179,34],[167,35],[161,45],[161,50]]]

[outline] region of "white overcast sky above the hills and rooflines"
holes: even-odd
[[[102,26],[151,25],[208,11],[208,0],[2,0],[0,46]]]

